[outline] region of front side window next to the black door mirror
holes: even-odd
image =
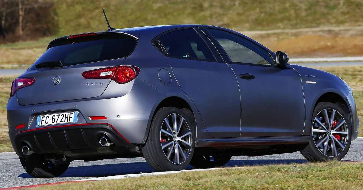
[[[248,40],[218,29],[207,29],[207,31],[218,41],[231,61],[271,65],[268,52]]]

